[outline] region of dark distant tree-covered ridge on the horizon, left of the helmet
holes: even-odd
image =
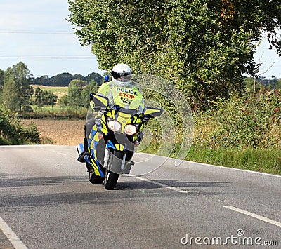
[[[103,76],[98,73],[91,73],[88,76],[84,76],[81,74],[72,75],[70,73],[62,73],[56,76],[52,76],[51,78],[49,78],[48,75],[34,78],[30,82],[30,84],[41,86],[68,86],[72,79],[81,79],[88,82],[91,82],[93,80],[98,83],[98,85],[101,85],[103,83]]]

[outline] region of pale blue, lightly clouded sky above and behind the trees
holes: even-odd
[[[80,45],[67,22],[69,15],[67,0],[1,0],[0,69],[24,62],[34,77],[102,74],[91,47]],[[257,48],[254,59],[263,62],[261,76],[281,78],[281,57],[268,49],[267,41]]]

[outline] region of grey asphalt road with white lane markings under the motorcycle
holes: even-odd
[[[281,247],[280,176],[136,154],[107,191],[76,159],[0,147],[0,248]]]

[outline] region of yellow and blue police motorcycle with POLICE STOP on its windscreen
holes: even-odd
[[[131,88],[112,89],[114,103],[107,97],[91,93],[86,118],[84,144],[77,145],[78,154],[86,149],[84,162],[92,184],[116,187],[119,175],[129,174],[135,147],[141,142],[142,130],[151,118],[160,116],[161,109],[145,107],[138,111],[143,96]],[[98,114],[97,114],[98,113]],[[99,116],[101,129],[96,124]]]

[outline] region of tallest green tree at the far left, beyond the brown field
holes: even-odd
[[[6,70],[4,73],[5,93],[2,100],[6,102],[9,109],[21,112],[22,107],[27,107],[31,104],[31,97],[33,95],[33,88],[30,86],[31,79],[32,74],[30,74],[30,70],[22,62]]]

